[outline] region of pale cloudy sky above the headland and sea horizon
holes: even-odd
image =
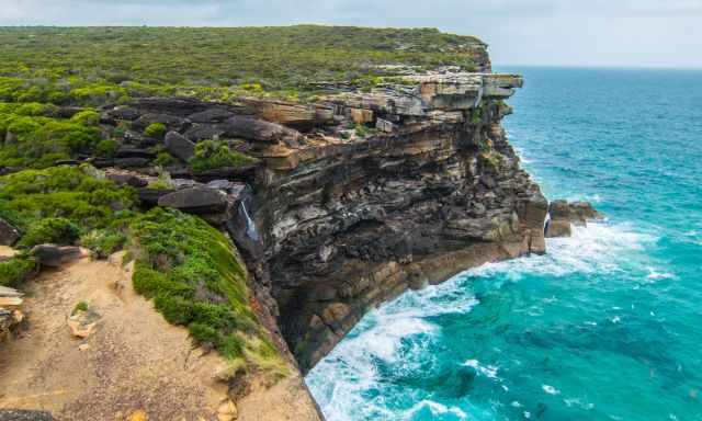
[[[434,26],[497,65],[702,68],[702,0],[0,0],[0,25],[293,23]]]

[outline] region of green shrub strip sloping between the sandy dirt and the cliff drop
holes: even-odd
[[[203,219],[154,208],[128,226],[136,260],[135,289],[154,298],[193,340],[229,359],[262,367],[284,365],[251,310],[246,271],[222,232]]]

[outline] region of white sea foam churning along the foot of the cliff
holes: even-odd
[[[330,420],[406,420],[412,419],[412,416],[426,417],[427,411],[437,419],[467,418],[465,408],[446,407],[427,400],[422,395],[417,396],[417,403],[405,410],[390,409],[393,406],[387,405],[382,396],[367,398],[369,391],[376,394],[385,387],[380,378],[378,362],[392,365],[395,371],[416,372],[431,361],[433,356],[428,349],[432,341],[441,338],[441,328],[433,325],[431,318],[468,312],[479,304],[476,297],[466,293],[466,275],[499,275],[512,281],[533,274],[616,275],[622,271],[622,262],[632,261],[631,255],[639,253],[655,240],[654,236],[636,232],[631,226],[593,223],[587,228],[574,227],[570,238],[547,239],[548,253],[545,255],[488,263],[443,284],[407,292],[369,312],[352,333],[310,372],[306,380]],[[649,274],[659,272],[664,273],[661,270],[652,270]],[[548,299],[540,303],[548,304]],[[584,323],[597,326],[596,321]],[[475,368],[480,376],[500,382],[497,366],[480,364],[478,360],[467,360],[464,365]],[[550,385],[543,385],[542,388],[550,395],[561,394]],[[471,403],[467,405],[469,407]],[[511,405],[521,403],[513,401]],[[530,416],[524,412],[524,417]]]

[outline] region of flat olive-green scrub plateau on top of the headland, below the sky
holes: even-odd
[[[472,36],[434,29],[4,27],[0,101],[82,105],[145,95],[298,99],[310,82],[373,86],[393,66],[475,67]]]

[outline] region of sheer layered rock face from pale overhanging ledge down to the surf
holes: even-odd
[[[416,80],[326,98],[337,121],[366,134],[291,143],[291,132],[250,121],[242,127],[261,128],[237,133],[258,141],[264,164],[228,227],[303,371],[407,288],[545,251],[548,204],[500,126],[501,99],[521,79]]]

